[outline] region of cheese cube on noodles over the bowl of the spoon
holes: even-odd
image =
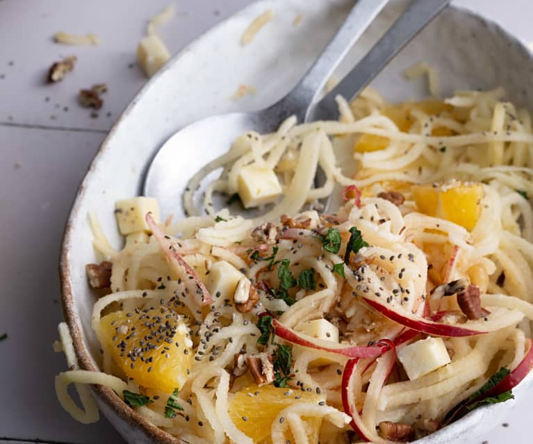
[[[240,170],[238,193],[245,208],[270,204],[282,191],[276,174],[270,168],[252,164]]]

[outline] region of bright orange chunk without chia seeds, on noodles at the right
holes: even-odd
[[[450,181],[413,186],[412,192],[420,213],[442,217],[470,231],[477,224],[483,197],[480,183]]]

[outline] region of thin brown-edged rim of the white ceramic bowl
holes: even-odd
[[[172,59],[166,63],[166,65],[160,69],[145,85],[138,90],[135,97],[132,99],[132,101],[124,108],[122,111],[122,114],[118,118],[118,120],[111,126],[110,131],[104,138],[104,140],[101,142],[101,145],[99,146],[99,149],[97,150],[95,157],[92,159],[87,172],[85,173],[85,176],[83,176],[83,180],[81,181],[78,190],[76,191],[76,195],[74,196],[72,207],[69,211],[69,215],[67,217],[67,222],[65,223],[65,229],[63,231],[63,238],[61,240],[60,245],[60,256],[59,256],[59,263],[58,263],[58,272],[59,272],[59,280],[60,280],[60,293],[61,293],[61,305],[63,309],[63,317],[65,318],[65,322],[67,323],[67,326],[69,327],[70,334],[72,336],[72,343],[74,345],[74,352],[76,353],[76,358],[78,359],[79,367],[81,370],[89,370],[89,371],[95,371],[99,372],[101,371],[99,368],[97,368],[92,363],[91,354],[88,351],[87,347],[85,347],[84,341],[83,341],[83,334],[82,334],[82,327],[79,322],[79,316],[76,311],[76,305],[74,303],[74,295],[72,291],[72,284],[70,281],[70,263],[69,263],[69,254],[71,250],[71,236],[72,236],[72,230],[73,230],[73,224],[76,218],[78,217],[78,213],[80,211],[81,201],[83,200],[83,197],[85,195],[85,188],[86,184],[92,179],[93,174],[95,173],[95,170],[97,169],[97,165],[99,165],[100,158],[102,154],[104,154],[104,151],[108,149],[108,145],[110,144],[110,141],[113,140],[113,137],[115,133],[117,132],[117,128],[120,126],[123,120],[125,120],[129,114],[131,113],[131,110],[133,110],[134,107],[137,106],[138,101],[142,99],[142,97],[147,94],[147,92],[153,87],[154,83],[156,83],[159,79],[159,77],[164,73],[167,72],[170,69],[173,69],[174,65],[177,64],[177,61],[188,52],[191,52],[197,47],[199,44],[201,44],[202,40],[208,35],[211,35],[211,33],[214,33],[215,30],[218,30],[219,28],[222,28],[226,26],[227,22],[229,22],[231,19],[236,17],[237,15],[245,15],[252,10],[255,10],[256,8],[260,8],[261,6],[267,6],[270,3],[270,0],[260,0],[260,1],[254,1],[253,3],[250,3],[249,5],[245,6],[244,8],[240,8],[240,10],[237,10],[235,13],[229,15],[229,17],[223,19],[218,24],[215,24],[215,26],[208,29],[208,31],[202,33],[199,35],[195,40],[192,40],[189,44],[187,44],[185,47],[183,47],[180,51],[177,52],[174,56],[172,56]],[[520,40],[520,38],[517,38],[515,35],[513,35],[510,31],[505,28],[505,26],[502,26],[502,24],[495,22],[493,19],[486,17],[483,13],[479,13],[477,11],[474,11],[467,6],[457,6],[454,4],[450,4],[448,8],[454,10],[455,12],[464,14],[468,17],[481,20],[482,22],[485,22],[486,24],[489,24],[492,26],[495,31],[500,33],[503,38],[506,40],[509,40],[509,42],[513,42],[514,44],[517,44],[522,49],[525,49],[529,54],[532,54],[532,50],[527,47],[527,44],[523,42],[523,40]],[[532,372],[530,372],[529,375],[525,379],[532,379],[533,375]],[[520,384],[523,381],[520,382]],[[131,409],[129,406],[127,406],[120,397],[111,389],[106,386],[101,386],[99,384],[92,384],[92,393],[94,393],[97,397],[97,400],[100,402],[104,402],[107,404],[107,406],[110,407],[110,409],[122,420],[124,420],[127,425],[132,427],[133,429],[138,429],[139,431],[142,431],[142,433],[149,438],[151,443],[161,443],[161,444],[188,444],[186,441],[181,440],[180,438],[177,438],[175,436],[172,436],[167,431],[161,429],[160,427],[157,427],[153,423],[151,423],[149,420],[147,420],[144,416],[140,415],[140,413],[137,413],[134,409]],[[416,443],[423,444],[427,441],[427,438],[430,438],[430,441],[433,441],[433,439],[438,438],[438,435],[441,435],[443,433],[445,434],[451,434],[454,436],[455,434],[461,434],[462,429],[468,429],[470,425],[474,425],[479,419],[481,419],[481,416],[483,416],[484,412],[486,412],[487,409],[498,409],[502,406],[500,404],[493,404],[489,406],[484,406],[480,409],[475,409],[474,411],[471,411],[463,418],[457,420],[456,422],[452,422],[452,424],[447,425],[446,427],[443,427],[443,429],[440,429],[436,431],[433,434],[428,435],[426,438],[422,438],[420,440],[417,440]],[[105,412],[104,412],[105,416]],[[113,424],[113,427],[115,425]],[[116,429],[116,427],[115,427]],[[413,441],[414,442],[414,441]],[[427,441],[429,444],[429,441]]]

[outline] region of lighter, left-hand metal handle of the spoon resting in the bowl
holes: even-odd
[[[309,106],[322,92],[329,76],[386,3],[388,0],[357,0],[320,57],[315,60],[295,88],[272,108],[277,108],[277,111],[283,115],[296,115],[302,122]]]

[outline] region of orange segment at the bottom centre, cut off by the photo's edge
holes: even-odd
[[[286,395],[286,393],[289,393]],[[256,444],[268,444],[272,422],[286,407],[296,402],[318,403],[325,401],[324,395],[302,392],[294,388],[275,387],[272,384],[259,387],[256,384],[235,393],[229,401],[229,416],[236,427],[252,438]],[[243,417],[246,420],[243,420]],[[321,418],[304,418],[309,443],[318,443]],[[287,439],[294,442],[292,436]]]

